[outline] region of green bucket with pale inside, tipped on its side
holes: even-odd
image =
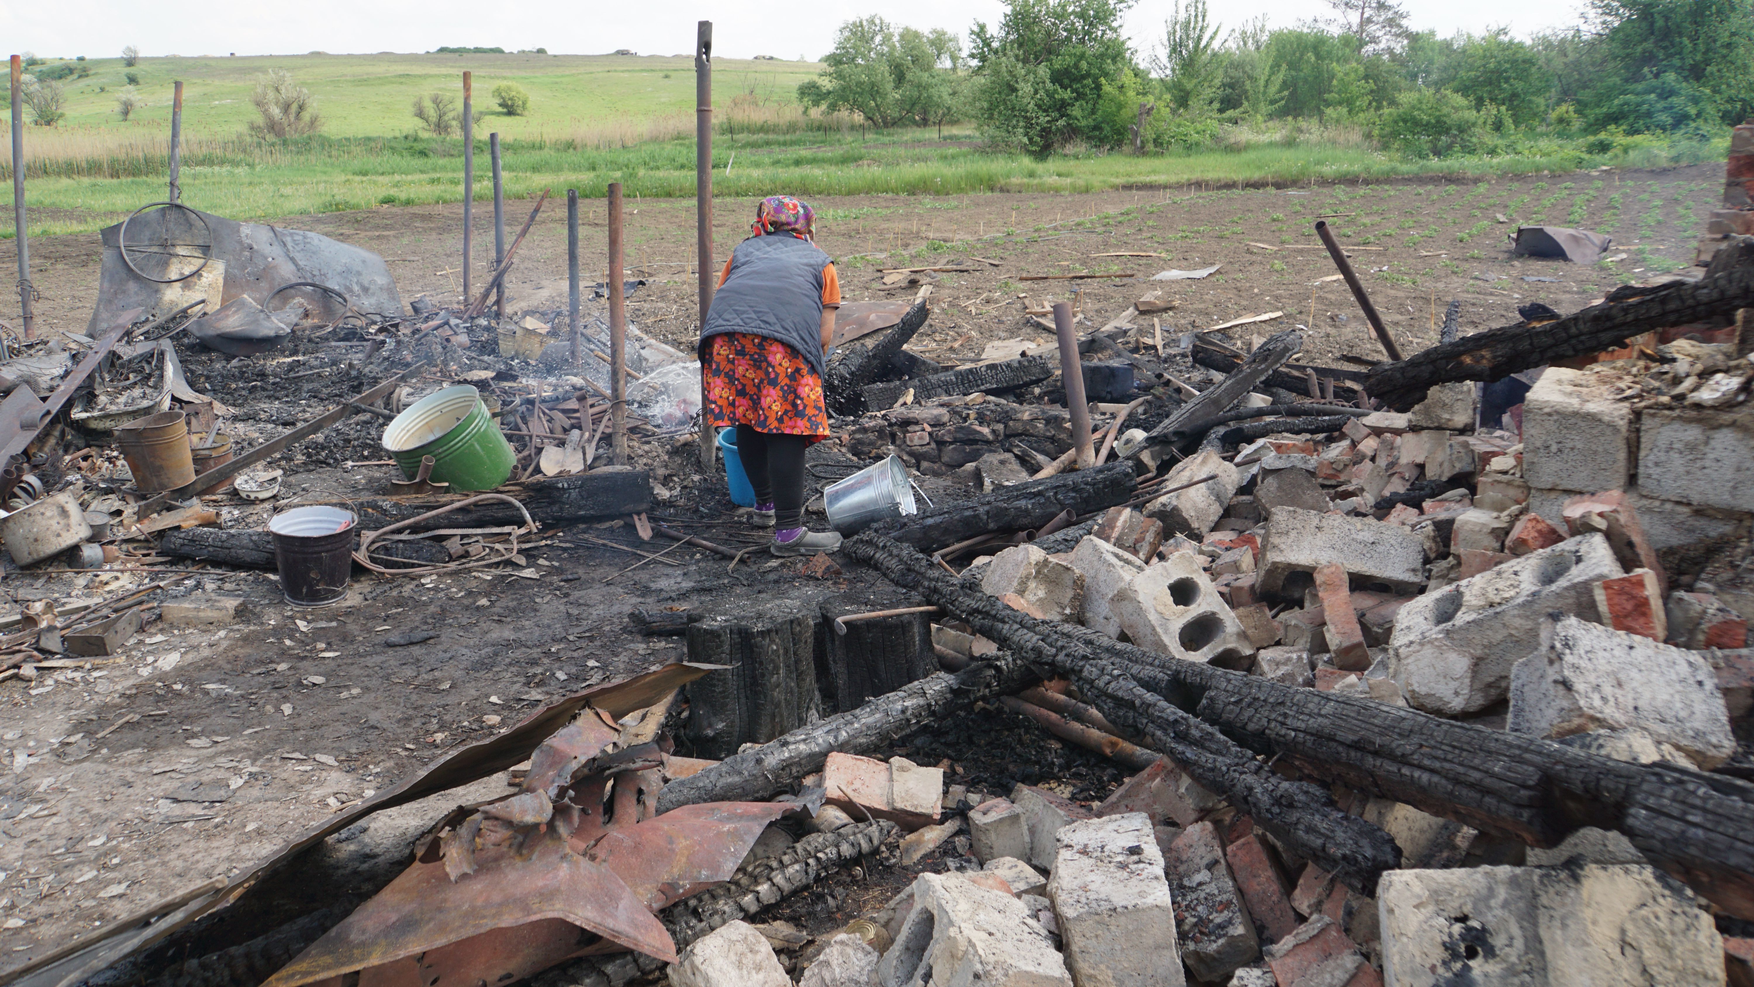
[[[421,458],[433,458],[428,477],[453,491],[491,491],[512,475],[517,458],[500,426],[468,384],[428,394],[384,428],[384,449],[414,479]]]

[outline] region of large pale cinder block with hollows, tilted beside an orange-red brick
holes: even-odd
[[[1503,699],[1542,619],[1594,612],[1594,582],[1626,575],[1601,535],[1568,538],[1428,593],[1394,617],[1389,670],[1419,710],[1459,715]]]

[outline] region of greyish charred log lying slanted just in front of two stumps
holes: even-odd
[[[833,633],[833,631],[830,631]],[[980,699],[1007,696],[1040,675],[1010,654],[949,673],[910,682],[863,707],[795,729],[761,747],[726,757],[696,775],[670,782],[658,792],[658,812],[702,801],[758,801],[795,785],[823,770],[831,750],[863,754],[888,747],[891,740],[942,722]]]

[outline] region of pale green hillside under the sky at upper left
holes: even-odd
[[[323,133],[330,137],[409,133],[417,126],[409,103],[433,91],[461,100],[465,70],[474,72],[481,135],[567,137],[591,124],[691,116],[695,110],[695,63],[688,56],[386,53],[142,58],[133,68],[125,68],[119,58],[68,65],[86,67],[91,74],[61,82],[67,88],[67,119],[58,130],[163,130],[170,124],[172,82],[181,79],[184,135],[233,135],[256,119],[249,96],[256,79],[270,68],[291,72],[300,86],[310,89],[323,114]],[[798,82],[821,68],[810,61],[716,60],[714,82],[719,100],[747,93],[765,102],[791,102]],[[140,79],[135,89],[147,105],[123,123],[116,114],[116,96],[128,84],[128,72]],[[530,116],[500,112],[493,103],[493,88],[500,82],[517,82],[530,93]]]

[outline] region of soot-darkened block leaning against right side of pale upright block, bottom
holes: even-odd
[[[1170,845],[1166,866],[1175,898],[1175,931],[1187,969],[1200,980],[1219,980],[1254,962],[1261,943],[1224,863],[1217,829],[1210,822],[1189,826]]]

